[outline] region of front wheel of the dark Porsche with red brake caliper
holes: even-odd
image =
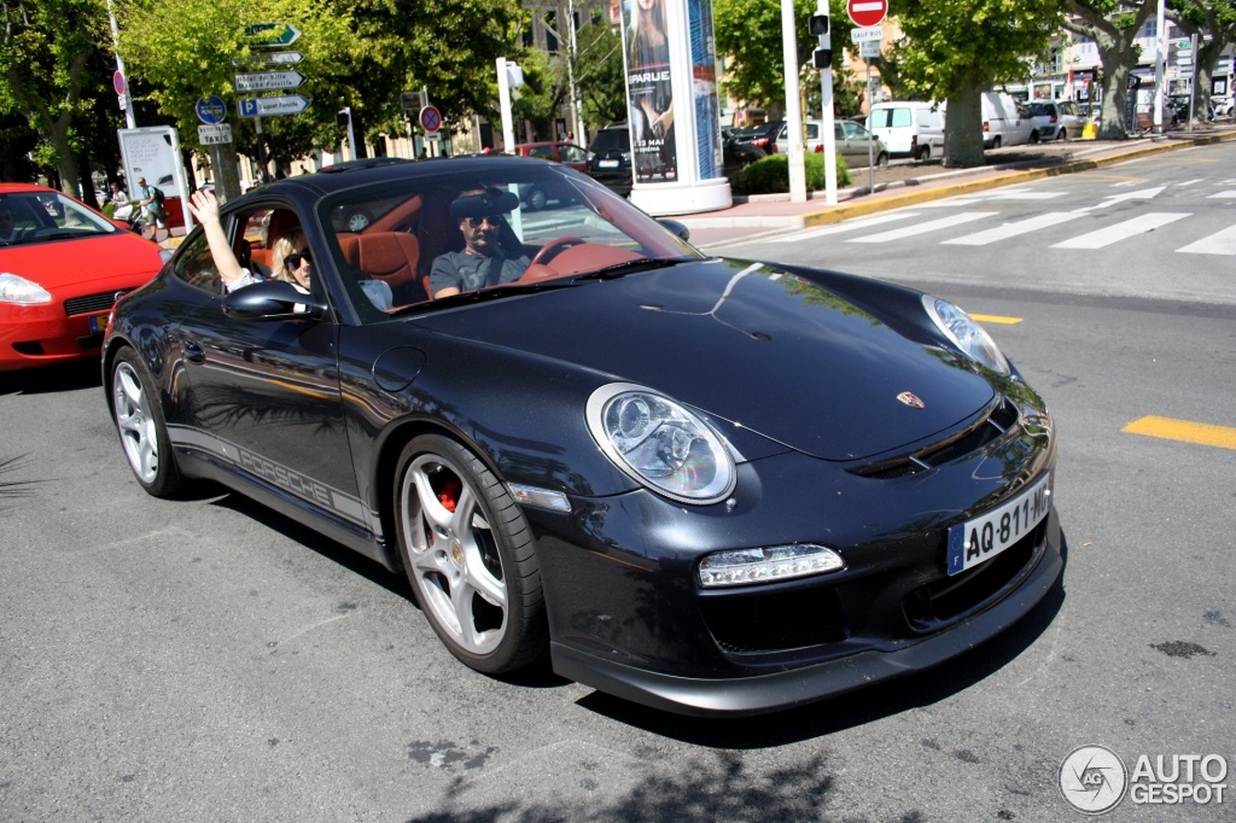
[[[452,655],[488,675],[545,655],[531,529],[476,455],[442,435],[412,440],[399,455],[394,515],[412,591]]]

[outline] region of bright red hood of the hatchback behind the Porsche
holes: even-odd
[[[90,290],[117,279],[140,285],[163,266],[158,246],[129,231],[0,247],[0,272],[19,274],[48,290]],[[85,287],[84,289],[80,287]]]

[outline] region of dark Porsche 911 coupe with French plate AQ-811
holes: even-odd
[[[477,671],[753,714],[955,657],[1060,575],[1052,418],[944,300],[709,257],[530,158],[362,162],[221,217],[251,284],[198,229],[109,325],[138,483],[405,572]]]

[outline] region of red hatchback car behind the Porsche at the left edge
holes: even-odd
[[[163,258],[70,196],[0,183],[0,372],[98,357],[111,306]]]

